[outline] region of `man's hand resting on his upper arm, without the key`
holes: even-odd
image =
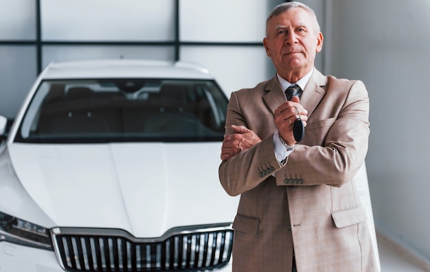
[[[231,129],[236,133],[224,137],[223,147],[221,147],[221,160],[228,160],[240,151],[249,149],[249,147],[261,142],[257,134],[243,125],[231,125]]]

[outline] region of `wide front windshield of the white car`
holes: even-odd
[[[15,141],[218,141],[226,111],[227,97],[212,80],[45,80]]]

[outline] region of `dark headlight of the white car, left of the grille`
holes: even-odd
[[[0,242],[52,250],[49,230],[0,212]]]

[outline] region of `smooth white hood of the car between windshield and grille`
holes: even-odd
[[[12,144],[25,197],[54,225],[159,237],[172,227],[230,222],[218,181],[220,143]],[[19,217],[18,214],[14,216]]]

